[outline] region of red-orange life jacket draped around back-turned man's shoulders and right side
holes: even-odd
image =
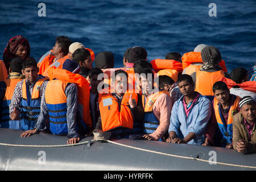
[[[78,108],[81,109],[82,120],[85,125],[92,127],[92,119],[90,118],[90,90],[86,78],[65,69],[50,67],[49,79],[52,80],[53,78],[76,84],[78,90]]]

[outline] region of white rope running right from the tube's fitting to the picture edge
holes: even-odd
[[[133,148],[133,149],[141,150],[141,151],[146,151],[146,152],[151,152],[151,153],[154,153],[154,154],[167,155],[167,156],[172,156],[172,157],[174,157],[174,158],[199,160],[199,161],[201,161],[201,162],[207,162],[207,163],[209,163],[209,160],[197,159],[197,158],[192,158],[192,157],[187,157],[187,156],[174,155],[174,154],[167,154],[167,153],[164,153],[164,152],[158,152],[158,151],[147,150],[147,149],[144,149],[144,148],[133,147],[133,146],[128,146],[128,145],[126,145],[126,144],[121,144],[121,143],[113,142],[113,141],[111,141],[111,140],[106,140],[106,141],[109,142],[109,143],[117,144],[117,145],[119,145],[119,146],[129,147],[129,148]],[[238,164],[229,164],[229,163],[221,163],[221,162],[212,162],[212,163],[221,164],[221,165],[225,165],[225,166],[243,167],[243,168],[254,168],[254,169],[256,169],[255,166],[243,166],[243,165],[238,165]]]

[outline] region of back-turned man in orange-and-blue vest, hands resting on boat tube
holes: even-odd
[[[46,127],[55,135],[67,135],[69,138],[67,143],[73,144],[80,140],[79,130],[81,129],[80,119],[77,117],[78,108],[78,89],[76,84],[69,81],[62,81],[67,78],[56,79],[58,72],[66,71],[72,75],[80,70],[75,61],[70,60],[67,67],[64,63],[64,69],[51,68],[49,69],[49,81],[45,90],[45,97],[41,107],[38,122],[35,129],[28,130],[22,133],[21,137],[30,137],[30,135],[37,134],[43,131]],[[57,73],[56,73],[57,72]],[[56,74],[57,75],[56,75]],[[77,74],[74,74],[75,76]],[[89,114],[89,113],[88,113]],[[49,125],[46,126],[46,120],[49,118]]]

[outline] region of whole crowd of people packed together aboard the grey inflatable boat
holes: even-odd
[[[114,68],[112,52],[94,55],[67,36],[36,61],[18,35],[0,60],[0,126],[25,130],[20,137],[67,136],[68,144],[110,133],[256,152],[255,67],[228,73],[220,51],[199,44],[151,61],[131,47]]]

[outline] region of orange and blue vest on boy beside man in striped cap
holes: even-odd
[[[225,122],[224,116],[221,113],[221,104],[218,104],[217,99],[214,97],[213,100],[213,108],[215,112],[215,117],[218,123],[218,128],[222,134],[222,142],[221,146],[225,147],[227,144],[232,143],[233,137],[233,130],[232,130],[232,123],[233,123],[233,116],[238,113],[238,104],[239,104],[240,97],[236,97],[233,105],[230,106],[229,114],[228,114],[228,122]],[[224,140],[223,140],[224,139]]]

